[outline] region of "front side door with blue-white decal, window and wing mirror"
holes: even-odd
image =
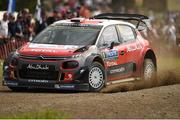
[[[114,44],[111,48],[111,44]],[[125,47],[117,34],[116,26],[109,26],[104,29],[99,40],[101,54],[105,61],[108,80],[119,80],[125,75],[126,54]]]

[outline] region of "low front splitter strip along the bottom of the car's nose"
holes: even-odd
[[[89,91],[87,83],[57,83],[51,80],[3,80],[3,85],[8,87],[24,87],[24,88],[39,88],[39,89],[54,89],[54,90],[77,90]]]

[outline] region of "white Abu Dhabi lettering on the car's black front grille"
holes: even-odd
[[[33,64],[29,64],[27,66],[27,69],[31,69],[31,70],[49,70],[49,66],[48,65],[33,65]]]

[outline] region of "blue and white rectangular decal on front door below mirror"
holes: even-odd
[[[109,52],[104,52],[103,53],[103,57],[105,59],[118,59],[118,51],[117,50],[112,50],[112,51],[109,51]]]

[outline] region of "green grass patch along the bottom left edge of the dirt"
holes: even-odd
[[[0,116],[0,119],[70,119],[70,116],[57,110],[47,109],[39,112]]]

